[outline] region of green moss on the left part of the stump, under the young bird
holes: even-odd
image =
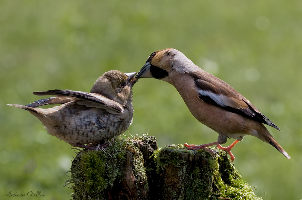
[[[139,177],[144,187],[148,187],[147,177],[144,167],[143,155],[134,146],[134,142],[143,142],[147,135],[130,136],[127,139],[114,137],[110,140],[110,146],[106,151],[80,151],[72,161],[71,167],[71,188],[74,193],[74,200],[80,199],[105,199],[104,189],[112,187],[114,182],[124,182],[125,176],[121,176],[121,166],[127,160],[127,153],[131,154],[133,173]]]

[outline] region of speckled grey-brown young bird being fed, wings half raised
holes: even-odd
[[[96,149],[84,144],[110,139],[124,133],[133,121],[132,87],[137,73],[111,70],[99,77],[90,93],[73,90],[48,90],[35,95],[57,95],[26,106],[11,105],[28,110],[44,125],[50,135],[71,146]],[[42,105],[62,104],[53,108]]]

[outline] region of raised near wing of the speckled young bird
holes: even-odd
[[[77,104],[85,105],[86,107],[97,107],[106,109],[109,112],[113,113],[123,113],[124,108],[119,103],[108,99],[97,93],[88,93],[74,90],[47,90],[47,91],[39,91],[33,92],[33,94],[38,96],[43,95],[59,95],[59,96],[68,96],[75,97]]]

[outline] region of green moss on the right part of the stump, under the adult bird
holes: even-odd
[[[167,150],[172,152],[166,154]],[[180,177],[179,184],[184,184],[185,188],[179,199],[214,200],[219,197],[232,200],[262,199],[255,195],[253,189],[242,179],[236,168],[231,165],[226,152],[220,149],[214,149],[214,151],[216,151],[216,156],[204,149],[197,152],[187,150],[181,144],[166,146],[154,153],[157,172],[167,169],[169,165],[182,168],[179,173],[186,173],[186,176],[183,177],[183,174],[178,174]],[[201,166],[195,166],[192,172],[188,172],[186,171],[188,163],[179,159],[179,154],[182,152],[190,155],[198,153],[205,158],[206,162]]]

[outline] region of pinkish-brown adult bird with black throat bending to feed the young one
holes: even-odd
[[[291,158],[263,123],[280,130],[278,126],[233,87],[196,66],[182,52],[171,48],[153,52],[136,77],[156,78],[172,84],[192,115],[218,133],[217,142],[198,146],[185,143],[188,149],[197,150],[217,145],[217,148],[226,150],[233,161],[233,146],[243,136],[251,135],[271,144],[288,159]],[[228,147],[220,146],[226,143],[227,138],[234,138],[236,141]]]

